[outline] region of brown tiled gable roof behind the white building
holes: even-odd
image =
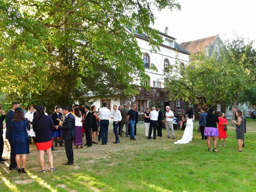
[[[218,35],[194,40],[194,41],[188,41],[188,42],[183,42],[180,43],[182,47],[184,47],[186,50],[189,52],[198,52],[200,49],[205,49],[205,47],[208,47],[212,44],[212,42],[216,39]]]

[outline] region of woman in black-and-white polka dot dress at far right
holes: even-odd
[[[238,152],[242,152],[242,145],[244,139],[244,119],[241,110],[236,110],[237,120],[232,122],[236,125],[236,139],[238,142]]]

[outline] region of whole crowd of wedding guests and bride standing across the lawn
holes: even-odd
[[[128,108],[129,107],[129,108]],[[0,128],[3,133],[4,118],[6,118],[6,139],[10,143],[10,167],[9,170],[18,170],[18,173],[26,173],[26,154],[29,153],[28,132],[34,132],[38,152],[39,162],[41,166],[41,172],[46,172],[44,167],[44,153],[48,155],[48,162],[50,164],[50,171],[53,172],[56,169],[53,166],[52,157],[52,139],[54,139],[55,147],[57,147],[57,138],[59,138],[60,146],[63,146],[62,140],[64,140],[64,147],[68,162],[63,165],[72,165],[74,163],[73,147],[83,148],[83,146],[90,147],[96,143],[96,136],[98,133],[98,126],[100,124],[100,130],[98,135],[98,141],[101,140],[102,145],[106,145],[108,142],[108,126],[110,117],[113,119],[113,132],[115,134],[114,144],[120,143],[119,136],[122,137],[124,125],[126,126],[126,137],[130,135],[130,140],[136,140],[134,134],[134,128],[138,123],[138,112],[136,111],[136,104],[130,106],[113,106],[113,114],[107,108],[107,103],[102,104],[102,108],[98,109],[96,113],[96,106],[84,106],[84,104],[74,105],[73,109],[70,106],[56,105],[55,112],[48,116],[46,108],[43,105],[39,105],[34,109],[34,106],[29,106],[28,112],[24,112],[24,109],[20,108],[18,102],[13,102],[11,110],[5,114],[0,105],[0,112],[2,114],[0,118]],[[90,112],[90,110],[92,112]],[[211,140],[213,140],[213,152],[218,152],[216,149],[217,137],[219,139],[219,146],[222,146],[221,139],[223,139],[223,146],[226,146],[226,126],[228,121],[225,114],[220,113],[220,117],[215,115],[214,107],[210,107],[206,113],[205,108],[200,109],[200,131],[202,134],[202,140],[207,140],[208,151],[211,151]],[[165,116],[165,118],[163,118]],[[236,125],[236,139],[238,140],[238,151],[242,151],[244,144],[244,133],[246,132],[246,118],[242,114],[241,110],[236,110],[237,120],[233,120],[232,123]],[[186,128],[184,134],[180,140],[174,142],[175,144],[185,144],[192,141],[193,138],[193,121],[194,112],[192,109],[187,111],[186,116]],[[160,106],[152,109],[147,108],[144,113],[144,125],[146,139],[156,139],[156,136],[162,137],[162,127],[165,124],[168,138],[174,139],[174,113],[170,110],[170,106],[166,106],[166,113],[160,111]],[[182,122],[184,122],[182,121]],[[218,127],[217,127],[218,126]],[[156,135],[156,131],[158,135]],[[86,144],[83,145],[83,135],[85,134]],[[0,137],[2,138],[2,137]],[[0,140],[0,162],[7,159],[2,158],[3,152],[3,140]]]

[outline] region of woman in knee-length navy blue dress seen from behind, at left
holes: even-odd
[[[18,166],[18,173],[26,173],[26,161],[29,154],[29,144],[28,144],[28,132],[30,130],[30,124],[27,118],[24,118],[22,108],[18,107],[14,110],[14,118],[12,119],[11,125],[14,130],[12,136],[12,143],[14,147],[14,152],[16,154],[16,163]],[[22,166],[20,164],[20,156],[22,159]]]

